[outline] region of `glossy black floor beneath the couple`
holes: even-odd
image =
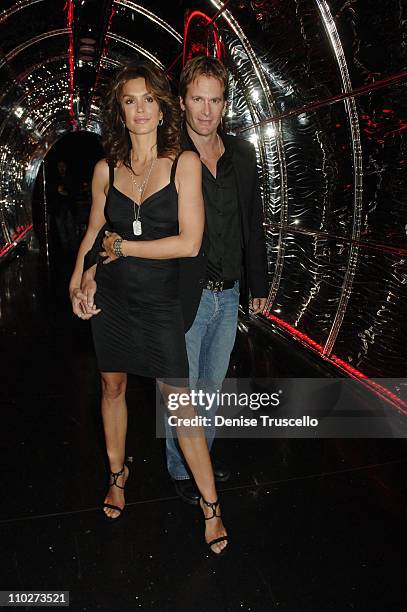
[[[69,591],[75,611],[407,609],[404,440],[218,440],[231,542],[214,559],[167,476],[153,381],[131,378],[126,511],[105,521],[89,325],[69,311],[69,262],[51,263],[33,249],[0,267],[0,590]],[[258,331],[240,329],[234,373],[256,359]],[[267,371],[277,354],[280,374],[318,375],[298,347],[267,346]]]

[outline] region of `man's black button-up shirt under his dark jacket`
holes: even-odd
[[[242,236],[237,187],[233,171],[233,149],[225,152],[216,168],[216,178],[202,164],[202,191],[209,238],[207,280],[239,280],[242,262]],[[186,128],[183,148],[196,151]]]

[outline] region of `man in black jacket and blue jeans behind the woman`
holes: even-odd
[[[219,129],[227,86],[226,68],[219,60],[205,56],[186,64],[179,85],[185,116],[182,147],[196,151],[201,158],[206,214],[199,255],[180,260],[180,293],[190,386],[206,392],[220,389],[226,376],[236,337],[239,293],[243,304],[248,302],[249,290],[256,296],[252,297],[253,313],[264,309],[268,293],[255,150],[247,141],[226,136]],[[85,261],[85,269],[90,261]],[[92,280],[88,286],[88,305],[93,308]],[[211,417],[215,410],[216,406]],[[199,491],[167,422],[166,429],[167,467],[176,491],[184,501],[198,503]],[[206,435],[211,449],[214,428],[208,428]],[[213,467],[216,480],[227,480],[225,466],[213,461]]]

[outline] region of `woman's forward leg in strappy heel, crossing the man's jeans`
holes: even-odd
[[[171,394],[189,393],[189,389],[180,389],[179,387],[171,387],[167,384],[158,382],[161,393],[168,401],[168,396]],[[192,418],[197,415],[192,404],[188,406],[180,406],[176,412],[177,417],[181,418]],[[180,448],[185,457],[188,467],[192,472],[195,479],[196,485],[201,493],[203,499],[207,502],[215,502],[218,499],[218,495],[215,487],[215,478],[213,475],[213,468],[211,458],[208,450],[208,443],[206,441],[205,430],[203,427],[177,427],[177,436]],[[200,500],[202,511],[206,518],[213,516],[211,508],[206,506],[202,499]],[[216,509],[216,514],[220,515],[220,508]],[[216,538],[226,536],[226,529],[223,526],[222,519],[219,517],[212,518],[211,520],[205,521],[205,540],[210,542]],[[223,548],[227,546],[226,540],[218,542],[211,546],[212,550],[219,554]]]

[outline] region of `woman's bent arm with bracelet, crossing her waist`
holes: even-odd
[[[175,174],[175,186],[178,191],[179,234],[157,240],[123,240],[121,251],[124,256],[144,259],[176,259],[198,255],[202,242],[205,213],[201,161],[193,151],[184,151],[180,155]],[[117,259],[112,250],[113,242],[117,238],[117,234],[106,233],[106,238],[103,240],[105,251],[102,255],[106,255],[107,259],[103,263],[110,263]]]

